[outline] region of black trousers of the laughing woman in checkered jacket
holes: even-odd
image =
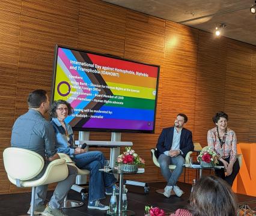
[[[228,163],[230,163],[230,157],[225,158],[224,160],[227,161]],[[219,161],[219,160],[218,160],[218,161]],[[221,161],[219,161],[219,164],[217,164],[217,165],[219,165],[219,166],[224,166],[224,164],[223,164]],[[224,171],[224,169],[215,169],[215,174],[216,174],[216,176],[218,176],[219,178],[222,178],[222,179],[224,179],[226,182],[228,182],[228,184],[232,187],[233,182],[234,182],[234,179],[236,178],[237,173],[239,173],[239,169],[240,169],[239,162],[238,162],[238,160],[236,159],[236,162],[235,162],[234,165],[233,165],[232,173],[231,173],[229,176],[225,176],[225,171]]]

